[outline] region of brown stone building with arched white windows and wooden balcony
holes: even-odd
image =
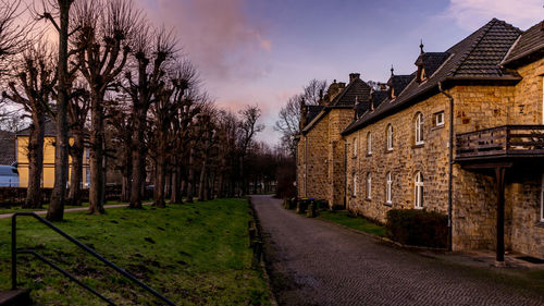
[[[345,151],[327,160],[344,166],[344,198],[313,193],[321,173],[306,173],[299,195],[379,222],[392,208],[440,211],[454,250],[544,258],[544,23],[522,32],[494,19],[444,52],[421,45],[415,64],[392,70],[373,108],[346,110],[339,135],[327,131]],[[302,145],[298,182],[319,161]]]

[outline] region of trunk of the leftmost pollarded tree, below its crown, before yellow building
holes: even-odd
[[[33,117],[28,139],[28,186],[23,208],[41,208],[41,173],[44,169],[44,115]]]

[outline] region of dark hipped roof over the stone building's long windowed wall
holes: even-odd
[[[371,122],[415,103],[425,95],[436,94],[438,82],[454,81],[505,81],[518,82],[519,75],[500,70],[499,63],[521,30],[503,21],[493,19],[487,24],[446,50],[448,58],[426,81],[412,79],[393,100],[385,100],[374,111],[366,112],[351,122],[343,134],[353,133]]]

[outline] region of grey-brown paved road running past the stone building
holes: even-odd
[[[280,305],[544,305],[544,294],[295,215],[269,196],[252,201]]]

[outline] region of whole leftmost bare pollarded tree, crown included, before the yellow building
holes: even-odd
[[[27,147],[28,184],[23,207],[40,208],[45,121],[47,113],[51,114],[49,100],[57,84],[54,60],[50,49],[42,44],[29,47],[15,62],[21,64],[13,68],[10,89],[2,96],[22,106],[32,119]]]

